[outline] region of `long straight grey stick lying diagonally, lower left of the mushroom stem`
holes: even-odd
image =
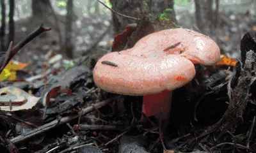
[[[95,104],[95,107],[100,108],[102,106],[108,105],[108,103],[110,102],[111,102],[111,99],[107,99],[106,101],[102,101],[100,103]],[[40,126],[36,129],[29,131],[28,133],[24,133],[23,135],[18,135],[15,138],[12,138],[11,142],[13,143],[23,142],[33,136],[39,135],[41,133],[44,133],[45,131],[48,131],[49,129],[55,128],[56,126],[60,126],[61,124],[70,122],[70,120],[73,120],[79,117],[81,113],[82,115],[84,115],[86,113],[92,112],[93,110],[94,110],[93,106],[88,106],[87,108],[84,108],[83,110],[81,110],[77,115],[72,115],[72,116],[62,117],[61,119],[52,120],[52,122],[49,122],[44,126]]]

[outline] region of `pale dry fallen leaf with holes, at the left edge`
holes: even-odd
[[[8,98],[8,96],[10,97]],[[22,103],[20,103],[21,105],[12,105],[12,107],[0,106],[1,110],[17,111],[17,110],[29,110],[33,108],[33,106],[36,105],[36,103],[39,101],[40,98],[35,97],[26,91],[22,91],[17,87],[10,86],[10,87],[3,87],[0,89],[0,99],[3,100],[3,101],[0,101],[1,103],[10,103],[10,99],[11,100],[13,99],[13,101],[16,101],[16,102],[22,101]],[[12,110],[10,108],[12,108]]]

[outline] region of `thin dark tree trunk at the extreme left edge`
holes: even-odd
[[[1,30],[0,30],[0,42],[1,42],[1,50],[0,52],[5,52],[5,41],[4,41],[4,36],[5,36],[5,3],[4,0],[1,0],[1,15],[2,15],[2,20],[1,20]]]

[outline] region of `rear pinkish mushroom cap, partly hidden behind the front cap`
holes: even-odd
[[[163,51],[179,42],[180,45],[177,47]],[[168,54],[182,55],[194,64],[212,65],[220,61],[220,48],[211,38],[183,28],[166,29],[148,34],[126,51],[129,54],[147,58]]]

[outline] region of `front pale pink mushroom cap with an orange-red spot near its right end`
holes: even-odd
[[[117,66],[102,64],[111,61]],[[180,55],[164,55],[154,59],[111,52],[95,65],[93,80],[104,91],[131,96],[172,91],[195,77],[195,66]]]

